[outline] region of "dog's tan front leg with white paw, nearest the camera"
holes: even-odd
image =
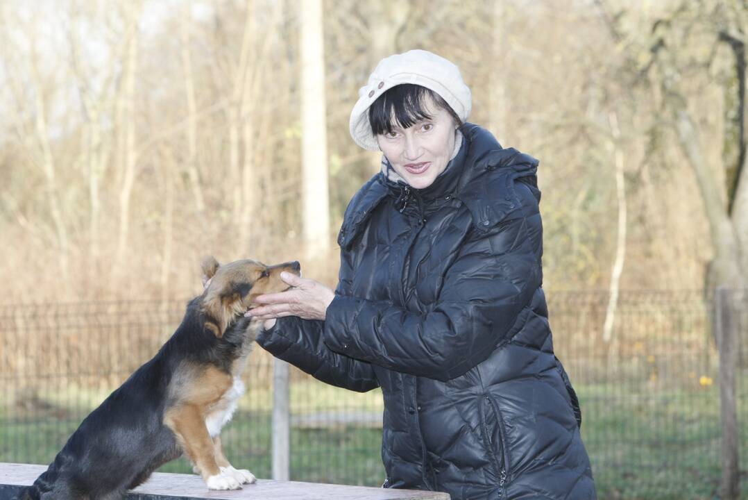
[[[221,472],[216,460],[215,445],[205,427],[205,417],[199,405],[187,404],[173,409],[169,412],[168,418],[165,418],[165,424],[177,436],[180,445],[200,471],[209,490],[239,490],[241,488],[240,481],[233,475]]]

